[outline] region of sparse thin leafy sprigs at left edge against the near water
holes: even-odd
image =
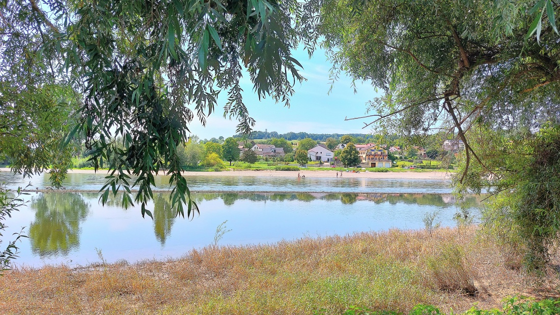
[[[15,193],[15,195],[14,195]],[[26,202],[22,199],[24,195],[21,188],[18,188],[16,192],[12,192],[10,189],[6,188],[5,183],[0,183],[0,236],[6,231],[8,227],[6,225],[6,219],[12,217],[12,212],[20,211],[20,208],[24,206]],[[11,261],[17,258],[18,248],[16,242],[20,240],[21,237],[26,237],[22,235],[22,231],[14,235],[15,239],[8,242],[5,249],[0,251],[0,273],[4,270],[9,270],[11,266]],[[0,239],[0,245],[4,240]]]

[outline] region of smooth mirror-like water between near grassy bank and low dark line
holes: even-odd
[[[239,180],[235,185],[240,183],[247,182]],[[156,194],[150,204],[152,221],[142,218],[138,207],[125,210],[118,201],[102,207],[96,193],[31,193],[25,197],[28,206],[8,220],[10,228],[4,235],[25,227],[24,233],[29,236],[18,244],[20,257],[16,264],[85,265],[99,261],[97,250],[109,262],[179,257],[194,248],[212,244],[217,226],[226,220],[231,231],[225,233],[219,244],[248,245],[304,236],[422,228],[424,214],[434,211],[439,211],[442,226],[454,226],[452,217],[457,211],[455,199],[449,194],[196,193],[193,196],[199,203],[200,215],[189,221],[175,218],[168,194]],[[479,199],[469,197],[468,202],[470,211],[477,214]]]

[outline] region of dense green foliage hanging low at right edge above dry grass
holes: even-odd
[[[524,251],[530,269],[542,268],[560,232],[560,125],[516,134],[479,130],[470,140],[484,165],[473,161],[458,191],[487,188],[486,230]]]

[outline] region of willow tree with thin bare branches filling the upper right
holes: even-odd
[[[530,139],[539,137],[543,124],[558,124],[560,36],[554,21],[558,12],[556,3],[551,0],[326,0],[317,3],[321,4],[321,10],[311,16],[320,20],[318,28],[324,36],[323,45],[334,61],[333,75],[345,70],[353,78],[370,80],[384,92],[370,102],[367,116],[358,117],[370,118],[365,127],[405,136],[447,130],[465,144],[463,168],[455,176],[459,191],[480,192],[482,187],[495,187],[497,180],[501,180],[500,190],[493,190],[497,194],[514,192],[520,197],[519,193],[527,190],[521,182],[512,179],[530,173],[528,169],[533,173],[542,169],[534,164],[519,164],[525,159],[517,160],[517,168],[507,169],[503,157],[515,153],[533,155],[539,150],[516,152],[514,149],[519,146],[482,144],[491,142],[492,137],[496,141],[505,139],[507,143],[517,137],[530,143]],[[308,5],[310,11],[317,6]],[[501,138],[496,137],[497,133]],[[558,135],[547,133],[551,134]],[[535,145],[557,140],[538,141]],[[544,151],[550,155],[549,149]],[[550,163],[558,164],[558,160]],[[543,196],[548,198],[547,202],[533,202],[540,197],[528,193],[510,198],[513,208],[532,205],[525,207],[529,210],[524,216],[510,222],[519,225],[520,220],[530,221],[529,217],[536,213],[547,213],[543,217],[550,218],[550,224],[531,227],[548,229],[548,237],[557,237],[560,225],[556,218],[560,212],[557,198],[550,198],[550,193],[556,191],[558,180],[543,183],[542,176],[533,178],[530,183],[523,183],[545,190]],[[544,184],[552,186],[546,188]],[[503,217],[507,219],[516,212],[506,208],[500,211],[506,213]]]

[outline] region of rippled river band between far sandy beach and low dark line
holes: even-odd
[[[256,173],[256,172],[255,172]],[[235,173],[234,173],[235,174]],[[105,184],[105,174],[68,174],[64,186],[69,189],[99,190]],[[348,192],[348,193],[451,193],[450,182],[441,179],[373,179],[335,178],[331,172],[325,178],[282,178],[266,176],[204,176],[187,178],[190,189],[200,191],[251,192]],[[31,183],[34,189],[50,186],[49,175],[22,178],[0,172],[0,182],[17,188]],[[156,176],[156,186],[169,188],[169,176]]]

